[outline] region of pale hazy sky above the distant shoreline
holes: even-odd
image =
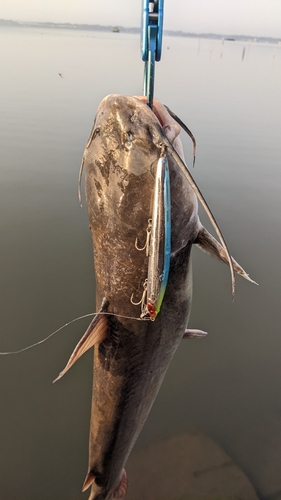
[[[140,26],[142,0],[0,0],[0,19]],[[281,0],[165,0],[164,28],[281,39]]]

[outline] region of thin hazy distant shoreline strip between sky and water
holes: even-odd
[[[140,33],[140,28],[124,28],[123,26],[101,26],[99,24],[71,24],[71,23],[41,23],[28,21],[13,21],[10,19],[0,19],[1,27],[19,27],[19,28],[41,28],[41,29],[65,29],[82,31],[103,31],[119,33]],[[270,38],[251,35],[233,35],[216,33],[185,33],[183,31],[164,30],[164,35],[179,36],[188,38],[209,38],[214,40],[258,42],[258,43],[277,43],[281,45],[281,38]],[[118,35],[117,35],[118,36]]]

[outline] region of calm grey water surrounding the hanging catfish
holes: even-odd
[[[138,36],[27,28],[1,29],[0,60],[0,350],[7,351],[94,310],[78,168],[98,103],[109,93],[141,93],[143,64]],[[232,254],[260,286],[238,278],[232,303],[227,267],[194,249],[190,327],[209,337],[180,346],[137,446],[201,429],[261,498],[277,499],[281,46],[167,37],[155,95],[195,134],[195,178]],[[87,497],[79,489],[92,354],[51,384],[86,325],[0,358],[1,500]]]

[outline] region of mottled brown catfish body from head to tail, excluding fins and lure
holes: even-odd
[[[108,311],[117,315],[140,315],[140,306],[130,297],[133,293],[135,301],[140,299],[148,262],[145,251],[135,248],[135,239],[139,246],[145,242],[163,131],[182,156],[176,122],[157,101],[154,111],[138,98],[106,97],[84,154],[96,307],[106,298]],[[168,159],[172,255],[161,311],[154,322],[108,316],[107,338],[94,348],[87,478],[95,480],[90,500],[112,498],[118,487],[191,310],[190,251],[202,226],[196,196],[171,156]]]

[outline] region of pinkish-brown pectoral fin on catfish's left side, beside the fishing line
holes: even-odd
[[[86,352],[88,349],[93,347],[95,344],[99,344],[102,342],[107,335],[108,328],[108,318],[105,316],[104,312],[106,312],[109,303],[107,300],[103,300],[102,306],[94,317],[94,319],[89,324],[86,332],[84,333],[81,340],[79,340],[77,346],[75,347],[73,353],[71,354],[67,365],[60,372],[59,376],[54,380],[53,383],[57,382],[60,378],[64,376],[64,374],[71,368],[74,363]]]

